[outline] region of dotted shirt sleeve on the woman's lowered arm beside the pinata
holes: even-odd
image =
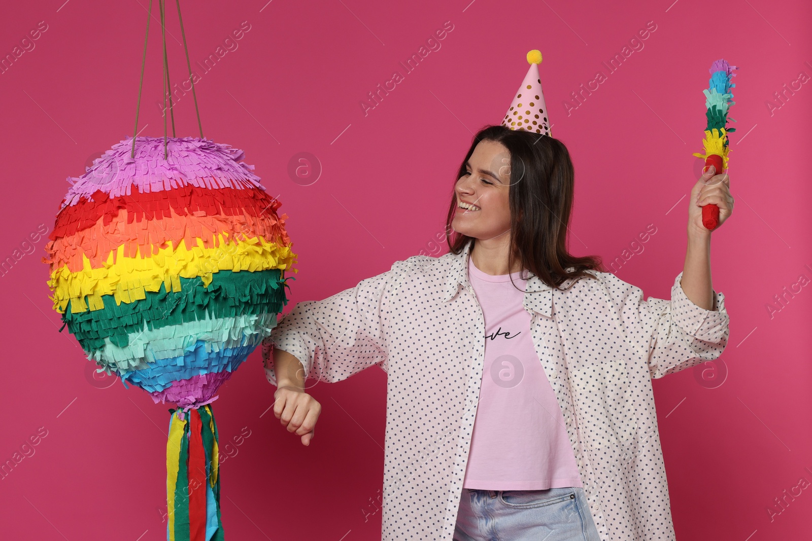
[[[299,359],[307,380],[335,383],[376,364],[387,371],[387,306],[400,263],[324,300],[297,303],[280,317],[262,342],[270,384],[277,384],[274,349]]]

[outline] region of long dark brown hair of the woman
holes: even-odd
[[[454,180],[455,186],[457,180],[466,174],[465,163],[482,140],[495,141],[510,152],[508,204],[512,250],[508,255],[508,268],[513,268],[514,260],[518,259],[523,269],[522,279],[527,279],[526,269],[555,288],[571,278],[593,277],[585,272],[587,269],[606,272],[599,255],[576,257],[567,251],[575,186],[567,147],[549,135],[503,126],[483,127],[473,136],[471,148]],[[446,242],[452,253],[459,254],[473,237],[451,229],[456,209],[454,192],[446,218]],[[570,267],[573,270],[567,272]]]

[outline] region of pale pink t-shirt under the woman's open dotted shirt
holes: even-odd
[[[485,317],[486,340],[463,487],[583,487],[561,407],[533,347],[530,315],[522,306],[527,281],[520,273],[483,273],[472,258],[468,273]]]

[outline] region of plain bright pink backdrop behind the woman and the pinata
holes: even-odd
[[[0,461],[47,431],[0,481],[0,537],[164,539],[168,406],[88,376],[76,340],[57,332],[45,239],[26,243],[41,224],[53,227],[64,179],[132,135],[149,2],[63,2],[0,8],[2,55],[47,24],[0,74],[0,258],[19,257],[0,280]],[[552,132],[577,170],[571,250],[620,257],[619,277],[663,298],[685,255],[708,67],[717,58],[741,67],[731,109],[736,209],[713,235],[730,343],[717,363],[656,380],[654,392],[678,539],[806,535],[812,84],[798,79],[812,75],[808,2],[266,2],[185,2],[184,27],[193,64],[218,46],[227,51],[196,85],[205,135],[243,148],[290,216],[300,272],[287,309],[395,260],[446,251],[434,240],[456,168],[473,132],[503,117],[529,49],[544,55]],[[179,82],[186,67],[174,2],[167,13]],[[243,21],[250,30],[223,45]],[[441,48],[406,74],[399,62],[446,21],[453,30]],[[656,30],[633,42],[643,48],[609,73],[602,62],[649,21]],[[153,19],[141,135],[163,133],[159,28]],[[365,115],[360,102],[395,70],[404,80]],[[564,101],[597,71],[607,80],[568,114]],[[785,84],[794,93],[776,101]],[[191,94],[175,120],[177,135],[198,135]],[[316,182],[288,174],[299,152],[321,164]],[[650,224],[656,234],[634,243]],[[796,293],[771,314],[784,287]],[[309,448],[268,410],[273,391],[257,350],[214,405],[221,445],[232,442],[222,463],[227,539],[379,539],[384,372],[311,389],[323,412]]]

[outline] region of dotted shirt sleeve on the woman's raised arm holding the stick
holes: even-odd
[[[714,290],[714,310],[706,310],[685,294],[680,284],[682,273],[674,279],[671,300],[654,297],[643,300],[640,288],[611,273],[609,276],[613,297],[616,299],[620,294],[626,337],[640,353],[647,354],[652,378],[717,359],[728,345],[730,317],[723,293]]]

